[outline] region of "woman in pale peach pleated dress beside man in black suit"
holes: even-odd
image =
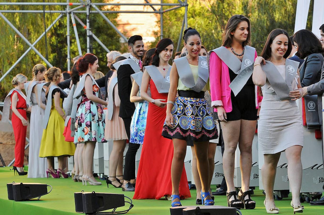
[[[107,178],[106,183],[107,186],[111,184],[114,187],[121,187],[123,184],[122,179],[119,180],[116,177],[122,176],[123,174],[123,152],[128,137],[124,121],[119,117],[119,106],[121,100],[118,95],[117,70],[112,65],[117,61],[124,59],[126,59],[126,57],[119,56],[111,63],[110,68],[114,72],[108,81],[108,107],[106,113],[105,139],[113,140],[114,143],[109,155],[109,177]]]

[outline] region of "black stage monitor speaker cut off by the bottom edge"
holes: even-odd
[[[237,215],[237,209],[218,205],[179,206],[170,208],[171,215]]]

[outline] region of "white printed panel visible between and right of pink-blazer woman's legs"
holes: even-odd
[[[240,149],[235,151],[234,163],[234,186],[241,187],[241,169],[240,169]],[[259,186],[259,156],[258,156],[258,135],[254,134],[252,142],[252,169],[250,175],[250,186]]]

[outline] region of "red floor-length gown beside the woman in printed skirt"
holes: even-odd
[[[152,79],[150,80],[150,89],[152,99],[165,99],[167,101],[168,93],[158,93]],[[149,103],[133,199],[159,199],[165,195],[171,195],[173,143],[171,139],[164,138],[161,135],[166,109],[167,107],[160,108]],[[191,197],[184,165],[179,191],[181,199]]]

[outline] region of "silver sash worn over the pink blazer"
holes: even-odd
[[[244,47],[244,56],[242,62],[236,56],[234,56],[232,52],[226,49],[225,46],[218,47],[211,52],[215,52],[217,56],[228,66],[228,68],[237,74],[236,78],[234,78],[229,85],[236,96],[242,90],[253,73],[255,48],[248,45]],[[208,57],[210,56],[211,52],[208,54]]]

